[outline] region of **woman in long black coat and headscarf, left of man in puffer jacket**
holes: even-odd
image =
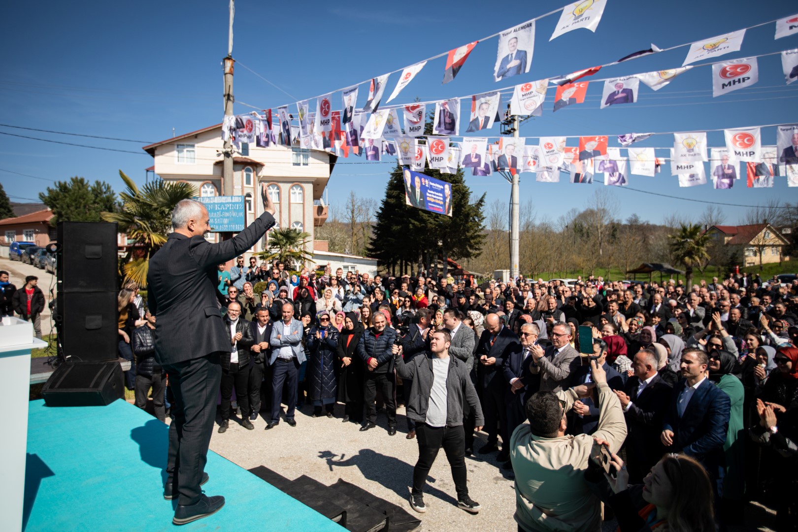
[[[354,312],[346,313],[344,328],[338,335],[338,400],[346,404],[343,422],[363,421],[363,372],[364,365],[358,357],[358,341],[363,335],[363,326]]]

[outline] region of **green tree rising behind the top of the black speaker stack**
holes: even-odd
[[[89,183],[77,176],[47,187],[46,194],[39,192],[39,199],[53,211],[53,226],[58,222],[101,222],[103,212],[119,209],[111,185],[99,180]]]

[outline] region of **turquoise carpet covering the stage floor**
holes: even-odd
[[[167,432],[124,400],[73,408],[31,401],[23,530],[344,530],[213,451],[203,489],[224,495],[224,507],[172,525],[176,501],[163,496]]]

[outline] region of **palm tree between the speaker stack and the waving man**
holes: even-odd
[[[172,232],[172,211],[180,200],[191,199],[196,191],[188,183],[166,183],[162,179],[155,179],[139,189],[123,171],[120,170],[119,175],[128,186],[119,195],[122,208],[119,212],[102,213],[102,219],[116,222],[119,232],[135,241],[124,258],[122,274],[125,279],[145,286],[149,259]]]

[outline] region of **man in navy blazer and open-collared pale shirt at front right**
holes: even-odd
[[[668,452],[697,459],[714,482],[720,500],[724,475],[723,444],[729,429],[731,401],[706,377],[709,358],[701,349],[681,353],[681,376],[670,396],[660,439]]]

